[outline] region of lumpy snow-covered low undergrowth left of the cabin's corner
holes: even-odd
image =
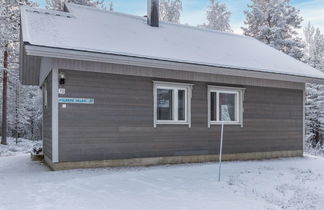
[[[33,149],[33,146],[35,144],[40,144],[41,142],[42,141],[32,141],[28,139],[19,138],[18,142],[16,143],[15,138],[8,137],[8,145],[0,144],[0,157],[30,153]]]

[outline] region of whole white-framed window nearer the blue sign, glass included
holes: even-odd
[[[156,124],[191,124],[192,85],[154,82],[154,127]]]

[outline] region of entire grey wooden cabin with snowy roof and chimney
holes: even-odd
[[[303,155],[305,83],[253,38],[66,4],[22,7],[23,84],[43,90],[54,170]],[[152,9],[153,8],[153,9]],[[155,12],[152,12],[155,11]]]

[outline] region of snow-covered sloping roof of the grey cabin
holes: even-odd
[[[22,8],[23,41],[31,45],[136,56],[324,79],[324,73],[256,39],[101,9],[66,5],[69,12]]]

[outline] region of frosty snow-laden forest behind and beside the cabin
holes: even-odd
[[[98,7],[113,11],[113,1],[46,0],[46,8],[62,10],[64,2]],[[9,54],[8,135],[41,139],[42,94],[39,87],[23,86],[19,81],[19,27],[21,5],[38,7],[31,0],[0,0],[0,69],[4,52]],[[244,35],[254,37],[312,67],[324,71],[324,36],[303,18],[290,0],[251,0],[242,26]],[[181,0],[160,0],[160,18],[180,24]],[[206,20],[197,27],[233,32],[231,12],[224,3],[210,0]],[[2,70],[0,74],[0,108],[2,106]],[[0,113],[2,118],[2,113]],[[0,125],[1,126],[1,125]],[[306,89],[306,148],[320,151],[324,143],[324,85],[307,84]]]

